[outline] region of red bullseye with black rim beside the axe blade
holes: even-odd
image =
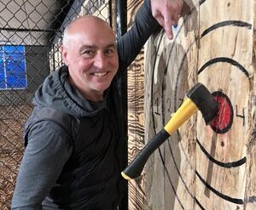
[[[213,98],[218,102],[218,116],[211,122],[211,128],[216,133],[226,133],[233,123],[233,107],[230,99],[224,93],[217,91],[212,93]]]

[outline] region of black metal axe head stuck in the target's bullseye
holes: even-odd
[[[200,82],[197,82],[195,86],[189,90],[187,96],[201,111],[206,124],[209,124],[215,116],[218,116],[218,102],[213,99],[212,94]]]

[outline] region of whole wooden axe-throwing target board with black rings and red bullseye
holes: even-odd
[[[151,139],[196,82],[220,106],[197,112],[150,156],[145,209],[256,209],[256,1],[186,1],[172,41],[164,31],[145,54],[145,138]],[[253,30],[254,29],[254,30]]]

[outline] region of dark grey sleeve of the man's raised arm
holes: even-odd
[[[135,60],[148,38],[160,28],[151,13],[150,0],[138,9],[131,29],[118,41],[119,69],[125,70]]]

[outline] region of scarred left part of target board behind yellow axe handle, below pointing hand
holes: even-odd
[[[197,77],[197,1],[187,1],[191,13],[174,29],[152,37],[145,58],[145,139],[164,128]],[[189,133],[188,133],[189,130]],[[146,166],[148,209],[192,209],[195,205],[195,117],[174,133]]]

